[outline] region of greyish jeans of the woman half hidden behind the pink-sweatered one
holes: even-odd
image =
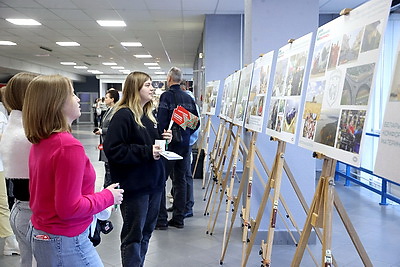
[[[32,210],[29,208],[29,201],[20,201],[16,199],[11,209],[10,224],[21,252],[21,267],[32,266],[32,247],[27,238],[31,216]]]

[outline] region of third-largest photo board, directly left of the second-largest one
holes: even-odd
[[[264,122],[265,104],[269,83],[271,81],[271,66],[274,51],[259,57],[254,62],[251,89],[247,104],[245,128],[261,133]]]

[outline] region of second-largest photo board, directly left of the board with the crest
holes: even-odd
[[[303,81],[310,52],[312,33],[281,47],[278,51],[267,134],[295,143]]]

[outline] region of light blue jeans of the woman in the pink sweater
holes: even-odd
[[[103,266],[99,254],[88,238],[89,228],[80,235],[68,237],[37,230],[30,224],[28,234],[38,267]],[[48,239],[41,238],[43,235]]]

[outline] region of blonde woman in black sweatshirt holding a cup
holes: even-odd
[[[151,77],[132,72],[121,100],[114,107],[104,151],[113,182],[125,190],[121,204],[121,257],[123,266],[143,266],[155,228],[165,172],[156,139],[171,141],[171,131],[161,131],[152,113],[154,88]]]

